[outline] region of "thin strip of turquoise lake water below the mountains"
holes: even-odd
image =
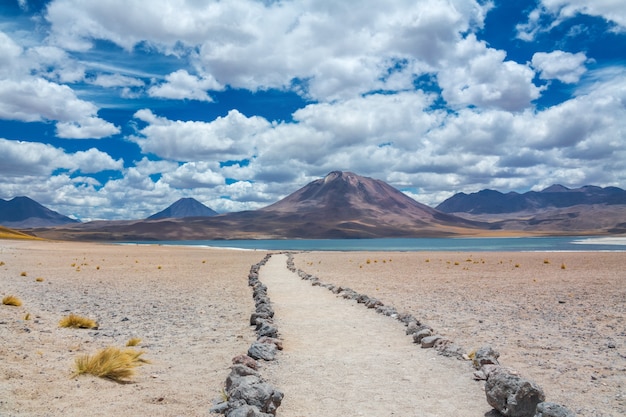
[[[124,242],[124,244],[187,245],[248,250],[297,251],[457,251],[457,252],[575,252],[626,251],[626,237],[516,237],[414,239],[286,239],[185,240]]]

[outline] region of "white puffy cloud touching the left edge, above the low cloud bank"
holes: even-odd
[[[57,135],[67,139],[99,139],[120,131],[97,117],[97,107],[76,97],[71,88],[42,78],[0,80],[0,118],[58,121]]]

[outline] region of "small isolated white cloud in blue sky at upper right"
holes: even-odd
[[[563,51],[537,52],[533,55],[532,66],[540,72],[539,76],[543,80],[557,79],[574,84],[587,71],[586,61],[587,57],[582,52],[576,54]]]

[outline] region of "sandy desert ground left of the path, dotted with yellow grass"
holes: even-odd
[[[0,240],[0,298],[23,303],[0,304],[0,415],[207,415],[254,339],[247,274],[264,255]],[[98,328],[60,327],[71,313]],[[108,347],[150,363],[129,384],[73,376]]]

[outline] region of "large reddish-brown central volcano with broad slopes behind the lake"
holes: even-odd
[[[457,236],[489,227],[420,204],[382,181],[335,171],[260,210],[33,232],[82,240],[327,239]]]

